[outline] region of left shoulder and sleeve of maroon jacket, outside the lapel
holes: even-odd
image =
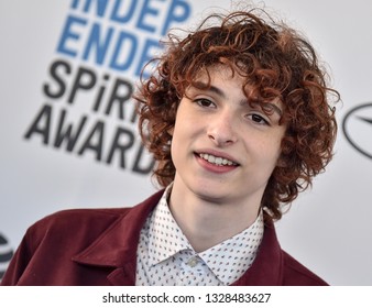
[[[45,268],[56,271],[59,266],[65,271],[74,254],[94,242],[129,210],[63,210],[36,221],[25,232],[1,285],[43,285],[39,278],[51,276]]]

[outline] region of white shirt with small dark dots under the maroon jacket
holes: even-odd
[[[263,235],[262,211],[239,234],[196,253],[167,205],[166,189],[141,230],[136,260],[140,286],[223,286],[251,266]]]

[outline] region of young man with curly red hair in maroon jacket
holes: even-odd
[[[338,92],[309,43],[266,19],[211,15],[169,36],[136,95],[164,189],[36,222],[3,285],[326,285],[273,222],[331,160]]]

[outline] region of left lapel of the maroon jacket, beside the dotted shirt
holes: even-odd
[[[116,268],[108,279],[113,285],[134,285],[136,246],[141,229],[164,190],[125,211],[88,248],[73,256],[84,265]]]

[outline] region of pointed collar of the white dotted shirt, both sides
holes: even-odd
[[[180,251],[189,250],[198,255],[223,283],[230,283],[227,272],[233,271],[242,275],[253,263],[263,238],[262,210],[253,224],[242,232],[201,253],[196,253],[168,208],[167,199],[171,189],[172,185],[165,189],[146,222],[150,265],[158,264]]]

